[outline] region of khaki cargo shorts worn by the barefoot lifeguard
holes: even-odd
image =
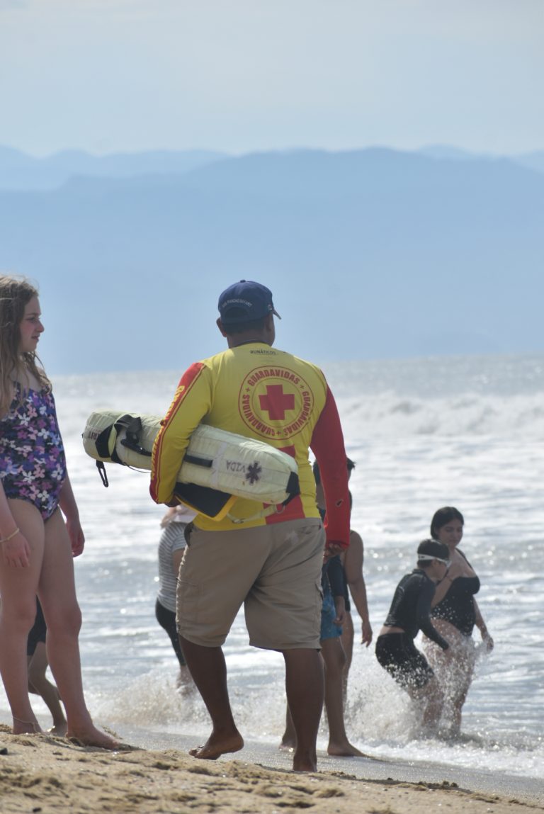
[[[319,649],[321,520],[229,532],[192,527],[178,579],[182,637],[222,646],[243,605],[249,642],[265,650]]]

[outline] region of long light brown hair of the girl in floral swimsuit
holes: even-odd
[[[24,309],[37,288],[24,277],[0,274],[0,416],[10,409],[13,379],[21,369],[28,371],[42,385],[50,389],[50,381],[36,352],[20,353],[20,323]]]

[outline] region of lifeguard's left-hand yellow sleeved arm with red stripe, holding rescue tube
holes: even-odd
[[[151,485],[149,491],[156,503],[172,501],[178,472],[191,433],[200,424],[210,405],[207,368],[202,362],[186,370],[161,422],[151,455]]]

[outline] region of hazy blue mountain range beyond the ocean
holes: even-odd
[[[182,369],[217,295],[274,291],[314,361],[544,351],[544,152],[0,148],[0,269],[37,279],[48,370]]]

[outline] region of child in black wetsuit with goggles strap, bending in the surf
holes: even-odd
[[[426,729],[436,729],[444,696],[427,659],[414,644],[419,630],[441,650],[449,643],[433,627],[431,603],[435,584],[448,569],[449,552],[436,540],[423,540],[418,546],[417,567],[402,577],[393,595],[387,619],[376,641],[376,659],[410,698],[423,703],[422,721]]]

